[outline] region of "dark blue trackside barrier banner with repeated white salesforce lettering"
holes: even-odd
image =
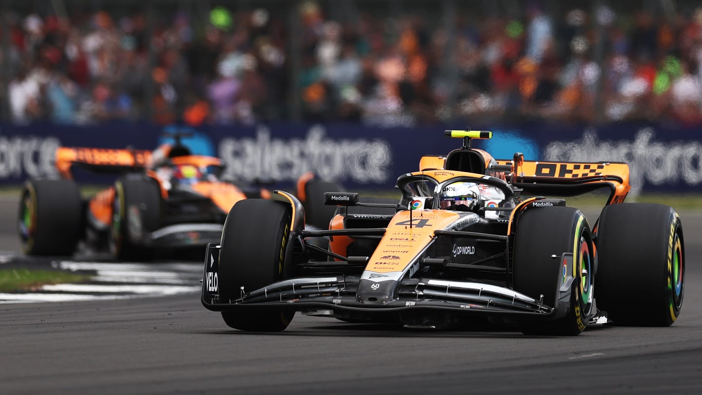
[[[451,125],[453,129],[462,129]],[[152,149],[187,131],[185,143],[227,165],[239,181],[289,185],[314,171],[347,188],[392,188],[400,174],[418,169],[422,155],[446,155],[461,139],[444,138],[445,127],[379,128],[348,124],[261,124],[200,129],[114,123],[96,126],[0,125],[0,183],[53,177],[58,146]],[[486,127],[474,129],[488,129]],[[632,193],[702,192],[702,129],[651,124],[578,127],[534,123],[493,127],[494,138],[475,141],[497,158],[524,153],[527,160],[627,162]],[[86,183],[104,176],[77,174]],[[109,181],[107,181],[109,182]]]

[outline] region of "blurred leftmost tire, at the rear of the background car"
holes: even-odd
[[[22,186],[18,233],[27,255],[72,255],[83,227],[81,193],[74,181],[32,180]]]

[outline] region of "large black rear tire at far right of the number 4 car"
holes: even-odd
[[[597,308],[615,324],[670,326],[684,295],[684,242],[675,209],[620,203],[597,226]]]

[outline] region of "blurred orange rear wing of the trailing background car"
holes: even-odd
[[[56,149],[55,163],[63,178],[72,179],[73,167],[100,173],[120,173],[143,169],[150,159],[149,150],[60,147]]]

